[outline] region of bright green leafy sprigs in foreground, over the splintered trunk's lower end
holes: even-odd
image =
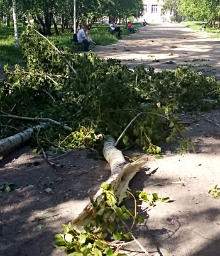
[[[133,219],[133,224],[143,223],[144,217],[139,216],[136,209],[126,209],[118,206],[118,198],[111,185],[102,183],[102,194],[93,201],[93,218],[91,223],[84,227],[85,233],[78,233],[71,223],[63,224],[65,230],[55,235],[55,246],[65,250],[68,255],[120,255],[113,250],[132,240],[129,228],[124,221]]]

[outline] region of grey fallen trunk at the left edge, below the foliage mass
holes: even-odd
[[[36,125],[35,127],[28,128],[23,132],[19,132],[18,134],[7,137],[6,139],[1,139],[0,155],[2,155],[3,153],[9,153],[9,151],[18,148],[22,144],[25,144],[26,141],[28,141],[31,138],[35,130],[45,128],[47,127],[47,125],[48,124],[46,123],[41,123],[39,125]]]

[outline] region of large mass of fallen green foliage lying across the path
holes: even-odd
[[[160,147],[155,144],[167,137],[168,141],[183,137],[185,128],[179,124],[176,112],[206,110],[218,103],[204,98],[219,98],[219,83],[189,67],[155,73],[153,68],[137,66],[130,71],[119,61],[104,61],[93,53],[75,54],[62,47],[59,54],[31,27],[23,33],[21,45],[27,67],[16,65],[14,71],[5,67],[7,76],[0,86],[0,108],[5,113],[47,117],[72,127],[72,134],[60,127],[40,132],[40,144],[47,148],[92,147],[99,142],[100,133],[117,138],[141,113],[119,146],[136,145],[145,152],[158,154]],[[7,124],[8,119],[0,119],[1,124]],[[14,134],[13,127],[23,131],[30,125],[13,120],[1,137]]]

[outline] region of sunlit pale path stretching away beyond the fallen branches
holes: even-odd
[[[194,70],[220,79],[219,46],[220,40],[206,32],[182,25],[148,25],[117,44],[96,46],[94,52],[105,59],[119,59],[130,68],[143,64],[161,71],[190,64]],[[169,61],[174,63],[167,64]]]

